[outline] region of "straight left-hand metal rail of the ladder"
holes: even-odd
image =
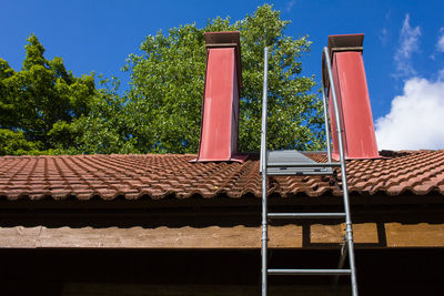
[[[262,296],[266,296],[268,271],[268,201],[266,201],[266,118],[268,118],[268,88],[269,88],[269,48],[264,48],[264,75],[262,90],[262,129],[261,129],[261,172],[262,172]]]

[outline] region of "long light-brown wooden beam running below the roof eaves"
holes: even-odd
[[[356,248],[444,247],[444,224],[354,224]],[[272,248],[337,248],[343,225],[270,227]],[[7,248],[260,248],[260,227],[0,227]]]

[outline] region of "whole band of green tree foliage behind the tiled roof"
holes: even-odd
[[[198,151],[206,50],[204,32],[240,31],[243,89],[240,151],[260,147],[263,49],[269,60],[271,149],[319,150],[323,144],[321,103],[313,76],[301,75],[306,37],[285,34],[289,21],[271,6],[243,20],[209,20],[148,35],[130,54],[119,80],[74,76],[61,58],[47,60],[31,34],[20,71],[0,59],[0,155],[39,153],[195,153]]]

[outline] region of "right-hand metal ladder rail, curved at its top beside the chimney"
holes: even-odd
[[[344,200],[344,210],[345,210],[345,234],[346,234],[346,243],[347,243],[347,251],[349,251],[349,264],[351,269],[351,282],[352,282],[352,294],[353,296],[357,296],[357,282],[356,282],[356,267],[354,264],[354,243],[353,243],[353,229],[352,229],[352,217],[350,214],[350,203],[349,203],[349,185],[346,178],[346,166],[345,166],[345,153],[344,153],[344,143],[343,143],[343,130],[341,126],[341,113],[337,104],[336,98],[336,89],[334,85],[333,80],[333,71],[332,64],[330,61],[330,53],[329,49],[325,47],[323,54],[325,59],[323,62],[326,63],[330,88],[332,93],[332,101],[334,108],[334,115],[336,121],[336,129],[337,129],[337,146],[340,151],[340,163],[341,163],[341,177],[342,177],[342,192],[343,192],[343,200]],[[324,72],[324,67],[322,67],[322,72]],[[324,73],[322,73],[322,78],[324,78]],[[322,88],[324,89],[324,79],[322,79]]]

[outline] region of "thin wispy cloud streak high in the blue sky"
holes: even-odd
[[[400,47],[396,50],[394,60],[396,65],[396,76],[414,75],[416,71],[412,65],[412,53],[420,51],[421,28],[410,25],[410,16],[405,16],[400,35]]]

